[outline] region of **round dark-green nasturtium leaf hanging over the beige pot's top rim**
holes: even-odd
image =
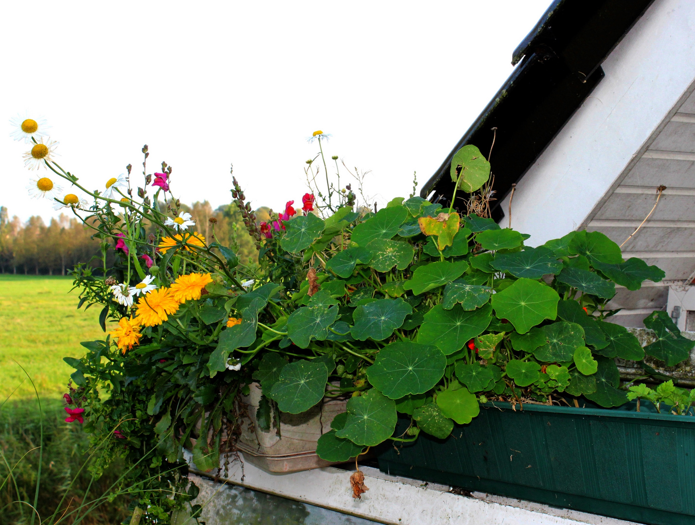
[[[328,381],[326,365],[317,360],[299,360],[285,365],[270,394],[282,412],[306,412],[323,399]]]

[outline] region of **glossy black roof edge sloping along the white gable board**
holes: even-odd
[[[492,217],[516,183],[603,78],[600,64],[622,40],[653,0],[555,0],[514,50],[521,63],[445,158],[420,191],[449,203],[454,190],[450,165],[454,153],[475,144],[491,154],[495,176]],[[457,208],[468,194],[458,192]]]

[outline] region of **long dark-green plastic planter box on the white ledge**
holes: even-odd
[[[494,404],[445,440],[420,433],[398,452],[384,449],[379,468],[634,522],[695,525],[695,417]]]

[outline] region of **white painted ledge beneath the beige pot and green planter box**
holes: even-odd
[[[190,455],[187,459],[193,472],[206,475],[196,471]],[[459,496],[444,485],[388,476],[370,467],[361,470],[369,487],[361,500],[352,498],[352,472],[334,467],[270,474],[245,462],[242,473],[239,462],[234,462],[220,481],[389,525],[632,525],[530,501],[482,493]]]

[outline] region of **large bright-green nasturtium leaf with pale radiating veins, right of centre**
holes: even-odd
[[[518,333],[526,333],[545,319],[557,317],[559,295],[553,288],[521,278],[514,284],[493,294],[492,307],[498,319],[507,319]]]

